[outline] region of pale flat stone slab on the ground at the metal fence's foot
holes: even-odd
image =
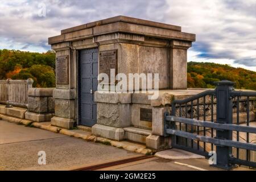
[[[204,156],[193,154],[192,152],[171,148],[156,152],[155,156],[164,159],[204,159]]]

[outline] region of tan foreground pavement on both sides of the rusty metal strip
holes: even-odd
[[[46,165],[38,152],[46,152]],[[0,120],[0,170],[69,170],[139,156],[121,148]],[[246,169],[246,168],[240,168]],[[206,159],[151,158],[101,170],[217,170]]]

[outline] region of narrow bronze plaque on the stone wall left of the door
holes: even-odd
[[[68,56],[56,58],[56,83],[68,84]]]

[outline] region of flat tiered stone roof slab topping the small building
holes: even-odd
[[[179,26],[130,18],[127,16],[115,16],[113,18],[61,30],[60,35],[48,38],[48,44],[72,42],[117,32],[159,39],[183,40],[187,42],[196,40],[195,34],[181,32],[181,27]]]

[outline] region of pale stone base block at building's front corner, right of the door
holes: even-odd
[[[123,129],[105,125],[93,125],[92,134],[97,137],[104,137],[118,141],[125,139],[125,131]]]

